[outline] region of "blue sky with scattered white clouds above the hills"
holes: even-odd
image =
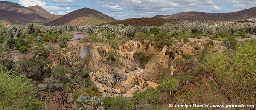
[[[48,12],[64,15],[84,7],[95,9],[117,20],[154,17],[179,12],[236,12],[256,6],[256,0],[7,0],[22,6],[39,5]]]

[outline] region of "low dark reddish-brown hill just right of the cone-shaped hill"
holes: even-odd
[[[103,23],[100,25],[111,24],[118,25],[123,24],[125,26],[162,26],[164,23],[169,22],[170,20],[161,19],[161,18],[130,18],[125,20],[118,20],[109,23]]]

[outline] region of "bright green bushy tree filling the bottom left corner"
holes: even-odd
[[[0,67],[0,109],[44,110],[31,79]]]

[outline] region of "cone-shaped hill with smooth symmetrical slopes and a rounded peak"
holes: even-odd
[[[116,19],[109,17],[99,11],[89,8],[82,8],[70,12],[56,20],[45,23],[45,25],[65,25],[65,26],[94,26],[102,23],[116,21]]]

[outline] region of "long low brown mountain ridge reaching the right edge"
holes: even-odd
[[[188,19],[212,19],[212,20],[247,20],[256,17],[256,7],[250,9],[244,9],[238,12],[230,13],[205,13],[205,12],[182,12],[173,15],[157,15],[154,18],[164,18],[164,19],[178,19],[178,20],[188,20]]]

